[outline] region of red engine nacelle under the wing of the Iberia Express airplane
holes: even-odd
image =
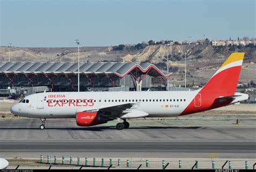
[[[78,126],[93,126],[107,123],[109,118],[101,116],[98,112],[77,112],[76,121]]]

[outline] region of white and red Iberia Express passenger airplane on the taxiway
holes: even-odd
[[[11,107],[19,116],[76,118],[79,126],[122,119],[118,130],[129,128],[126,119],[173,117],[197,113],[248,99],[235,92],[245,53],[232,53],[203,88],[194,91],[42,92],[26,96]]]

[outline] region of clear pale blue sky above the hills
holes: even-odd
[[[0,45],[74,47],[255,37],[255,0],[0,0]]]

